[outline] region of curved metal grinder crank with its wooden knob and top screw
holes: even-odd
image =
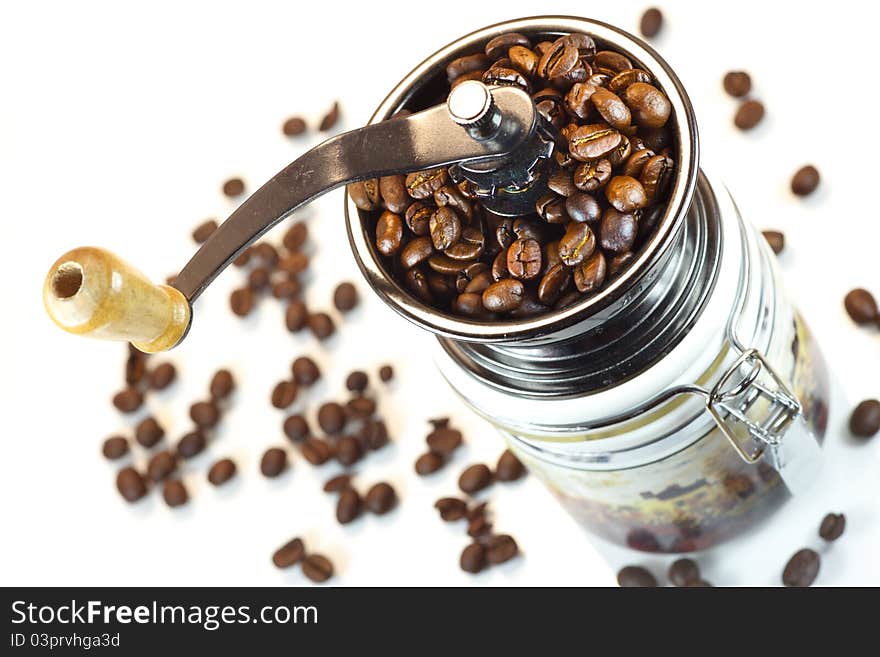
[[[154,285],[109,251],[73,249],[46,276],[53,321],[78,335],[164,351],[186,335],[192,304],[229,263],[294,210],[342,185],[456,162],[505,161],[534,136],[534,104],[514,87],[458,85],[445,104],[346,132],[316,146],[244,201],[181,270]]]

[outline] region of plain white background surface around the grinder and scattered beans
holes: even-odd
[[[855,327],[841,304],[857,285],[880,293],[877,16],[869,4],[663,3],[667,22],[655,44],[691,94],[703,163],[728,182],[755,224],[786,232],[788,286],[834,376],[822,480],[752,535],[698,556],[718,585],[778,583],[795,549],[820,544],[816,528],[829,510],[845,512],[848,527],[828,550],[817,584],[880,584],[880,438],[857,445],[846,431],[852,405],[880,396],[880,342],[876,330]],[[236,270],[202,297],[188,340],[169,357],[181,380],[148,406],[174,439],[188,430],[188,404],[204,396],[218,366],[231,367],[240,384],[209,453],[186,466],[192,500],[184,509],[168,509],[158,495],[135,506],[117,495],[118,466],[102,459],[100,445],[131,424],[109,403],[125,348],[65,335],[42,309],[43,276],[73,246],[106,246],[154,280],[178,270],[194,250],[191,229],[232,210],[220,193],[223,180],[241,175],[255,188],[316,143],[282,137],[288,115],[301,113],[314,126],[339,98],[342,127],[354,128],[418,61],[473,29],[539,11],[586,11],[635,30],[644,8],[624,1],[500,6],[3,5],[0,583],[302,585],[298,570],[279,572],[270,563],[272,551],[295,535],[330,556],[338,571],[332,582],[345,585],[608,585],[627,562],[662,572],[669,558],[591,539],[534,479],[486,495],[498,530],[517,538],[524,557],[478,577],[459,570],[463,528],[440,522],[433,501],[455,493],[465,465],[494,460],[502,446],[434,371],[430,337],[386,310],[361,281],[340,193],[299,215],[314,238],[310,307],[329,308],[344,279],[362,293],[361,308],[341,322],[337,337],[319,345],[291,336],[272,300],[247,321],[233,318],[227,299],[241,282]],[[750,134],[731,125],[736,104],[720,84],[731,68],[752,72],[755,96],[768,108]],[[798,200],[789,177],[806,162],[819,167],[823,183]],[[313,355],[325,375],[302,400],[341,397],[352,367],[375,373],[394,363],[395,383],[379,394],[394,445],[357,466],[362,487],[384,478],[397,487],[402,504],[388,517],[336,524],[333,500],[319,490],[335,464],[315,469],[293,455],[283,477],[258,473],[262,451],[285,444],[283,414],[269,406],[269,392],[301,353]],[[447,414],[468,447],[442,474],[417,478],[412,464],[424,449],[424,420]],[[136,455],[143,464],[143,453]],[[204,476],[223,455],[238,462],[241,476],[216,490]]]

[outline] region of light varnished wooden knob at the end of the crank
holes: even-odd
[[[131,342],[147,353],[180,342],[191,317],[179,290],[153,285],[114,254],[90,246],[68,251],[52,265],[43,303],[68,333]]]

